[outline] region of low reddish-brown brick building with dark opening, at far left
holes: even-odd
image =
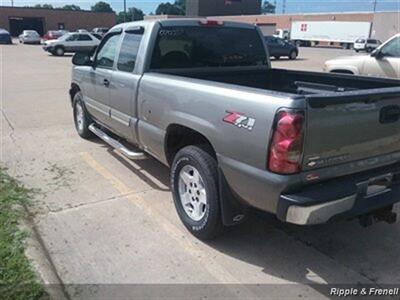
[[[115,23],[115,13],[0,6],[0,28],[8,30],[13,36],[18,36],[25,29],[36,30],[43,35],[48,30],[91,30],[112,27]]]

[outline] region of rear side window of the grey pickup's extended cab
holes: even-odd
[[[142,36],[141,34],[133,33],[125,34],[118,57],[118,70],[133,72]]]

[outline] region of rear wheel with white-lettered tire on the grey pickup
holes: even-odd
[[[217,162],[209,153],[181,149],[171,167],[171,190],[179,218],[194,236],[210,240],[222,233]]]

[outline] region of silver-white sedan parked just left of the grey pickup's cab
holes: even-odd
[[[66,33],[57,40],[46,41],[43,49],[53,55],[63,56],[64,53],[93,52],[100,40],[89,32]]]

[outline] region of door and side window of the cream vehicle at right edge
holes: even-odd
[[[400,36],[391,39],[376,53],[366,57],[362,75],[400,78]]]

